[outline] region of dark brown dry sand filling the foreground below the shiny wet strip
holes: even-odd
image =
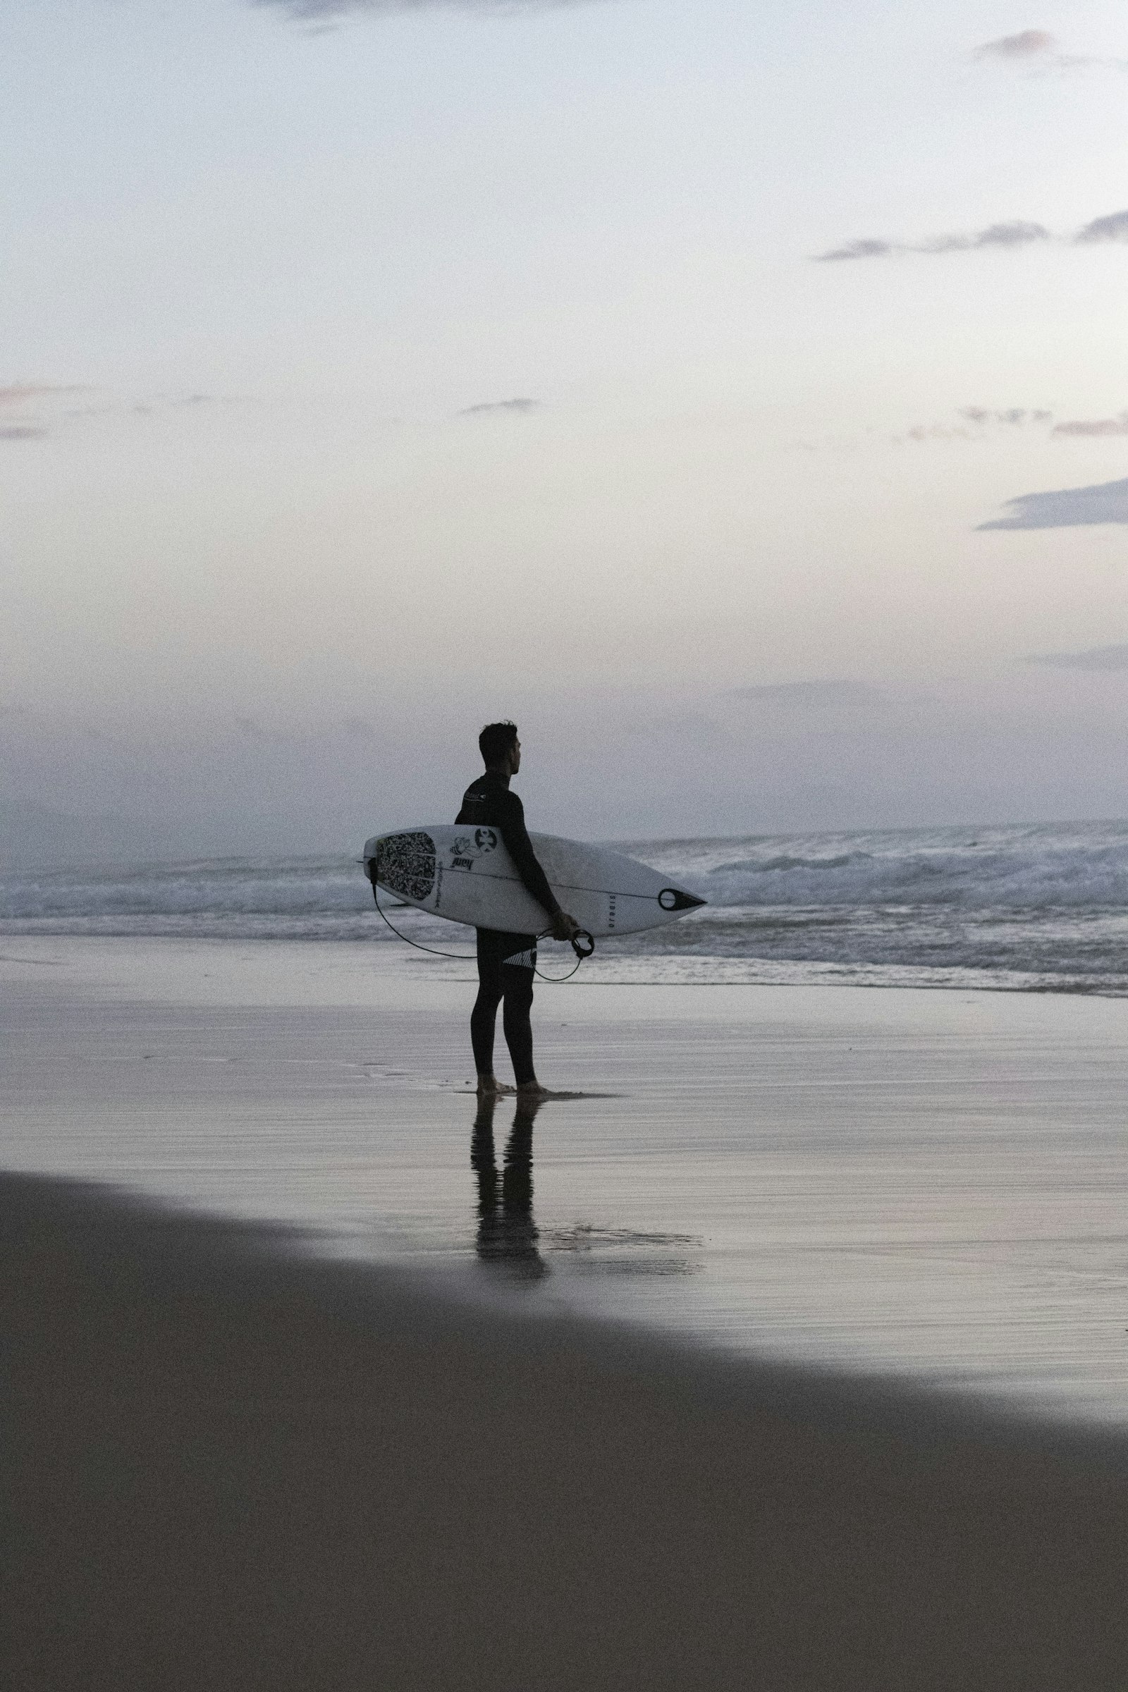
[[[147,1689],[1128,1685],[1128,1462],[0,1181],[10,1670]]]

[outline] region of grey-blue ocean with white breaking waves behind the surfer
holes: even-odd
[[[616,846],[709,904],[600,942],[580,980],[1128,993],[1128,822]],[[465,929],[414,910],[389,915],[419,946],[468,954]],[[10,871],[0,875],[0,934],[404,946],[374,909],[359,848],[357,858]],[[567,970],[570,953],[545,946],[541,961]]]

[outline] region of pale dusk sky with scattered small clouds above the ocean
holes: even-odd
[[[558,832],[1128,816],[1123,7],[0,0],[0,841],[347,849],[496,716]]]

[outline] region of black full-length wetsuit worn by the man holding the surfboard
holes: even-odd
[[[455,822],[470,827],[497,829],[517,875],[533,898],[553,917],[560,905],[548,885],[548,876],[536,861],[533,843],[524,827],[524,805],[509,792],[509,777],[487,770],[462,795],[462,810]],[[536,934],[509,934],[502,929],[479,929],[479,997],[470,1014],[470,1041],[479,1074],[494,1073],[494,1024],[497,1007],[504,1000],[502,1029],[512,1058],[517,1086],[536,1079],[533,1069],[533,971],[536,968]]]

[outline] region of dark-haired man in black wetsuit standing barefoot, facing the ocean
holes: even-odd
[[[479,734],[479,748],[485,775],[472,782],[462,799],[455,822],[470,827],[497,829],[512,858],[517,875],[533,898],[545,907],[553,937],[570,941],[578,934],[578,924],[560,909],[548,885],[548,876],[536,861],[533,843],[524,827],[524,805],[509,792],[509,778],[521,768],[521,741],[514,722],[487,722]],[[470,1042],[479,1074],[479,1093],[501,1093],[504,1088],[494,1076],[494,1025],[497,1007],[502,1008],[502,1029],[512,1058],[517,1093],[545,1098],[546,1088],[533,1069],[533,971],[536,970],[536,934],[506,934],[501,929],[479,929],[479,997],[470,1014]]]

